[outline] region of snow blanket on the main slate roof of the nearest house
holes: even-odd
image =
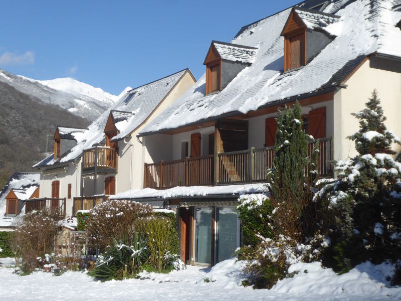
[[[391,0],[340,0],[325,13],[341,18],[325,27],[336,38],[301,69],[283,72],[284,42],[280,36],[291,8],[243,28],[232,43],[258,47],[251,66],[242,70],[222,91],[205,95],[205,74],[140,134],[150,134],[223,114],[256,110],[273,101],[333,89],[363,58],[375,52],[401,57],[399,13]]]

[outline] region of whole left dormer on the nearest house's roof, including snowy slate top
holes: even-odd
[[[206,94],[223,90],[256,56],[255,47],[212,41],[206,65]]]

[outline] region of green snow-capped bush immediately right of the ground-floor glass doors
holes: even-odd
[[[238,201],[237,213],[241,221],[243,245],[255,247],[260,242],[257,235],[272,238],[270,216],[273,207],[267,195],[242,195]]]

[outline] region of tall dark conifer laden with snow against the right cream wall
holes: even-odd
[[[346,272],[370,260],[396,262],[401,254],[401,164],[391,155],[399,139],[387,130],[373,91],[366,107],[353,114],[360,129],[349,139],[358,155],[338,162],[338,179],[315,195],[329,208],[333,268]]]

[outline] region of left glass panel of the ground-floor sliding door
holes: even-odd
[[[212,264],[212,207],[195,209],[195,262]]]

